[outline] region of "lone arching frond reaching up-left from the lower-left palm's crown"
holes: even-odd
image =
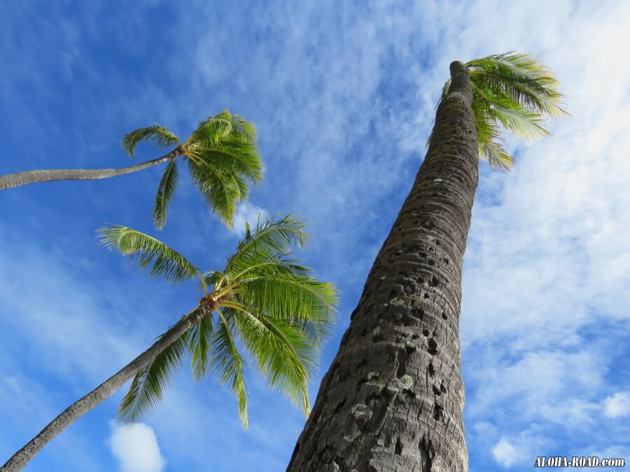
[[[149,273],[152,276],[160,276],[172,282],[201,276],[199,269],[179,252],[135,229],[112,224],[99,229],[97,235],[105,248],[129,256],[143,269],[151,266]]]

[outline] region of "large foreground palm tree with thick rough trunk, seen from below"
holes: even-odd
[[[458,337],[479,158],[509,169],[499,126],[548,134],[563,97],[533,57],[453,62],[409,196],[367,276],[288,471],[468,470]]]

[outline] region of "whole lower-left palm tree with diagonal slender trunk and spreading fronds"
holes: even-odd
[[[307,415],[307,383],[321,342],[330,334],[337,289],[316,280],[290,257],[302,246],[304,222],[290,216],[268,219],[228,257],[222,271],[201,273],[188,259],[151,236],[123,226],[101,229],[106,248],[128,255],[151,275],[179,282],[200,279],[197,306],[159,336],[148,350],[57,416],[0,468],[20,471],[52,438],[109,398],[133,378],[120,404],[123,422],[134,422],[162,398],[169,379],[188,350],[195,379],[212,372],[234,392],[247,426],[246,357],[255,359],[265,380]]]

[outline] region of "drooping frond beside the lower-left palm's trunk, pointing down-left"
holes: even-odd
[[[165,334],[162,334],[162,336],[165,336]],[[162,393],[169,385],[173,374],[181,366],[187,348],[188,333],[180,336],[155,357],[153,362],[144,366],[136,374],[134,380],[132,380],[129,392],[127,392],[118,408],[118,419],[120,422],[136,422],[139,418],[146,415],[151,408],[160,403]]]

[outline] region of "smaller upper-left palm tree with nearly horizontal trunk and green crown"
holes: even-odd
[[[166,224],[167,206],[177,188],[177,158],[180,156],[188,163],[190,176],[210,208],[228,226],[232,225],[235,204],[247,197],[248,182],[258,183],[262,180],[262,162],[256,147],[255,127],[228,110],[200,122],[183,143],[172,131],[155,124],[127,134],[123,138],[123,148],[133,157],[136,145],[143,140],[160,147],[174,148],[158,159],[123,169],[10,173],[0,176],[0,190],[55,180],[96,180],[123,176],[167,162],[153,206],[153,221],[161,229]]]

